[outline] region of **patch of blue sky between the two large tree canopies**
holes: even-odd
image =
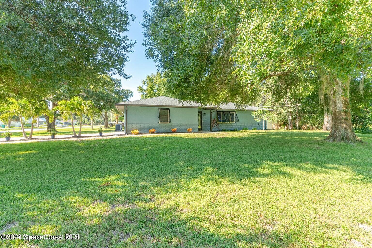
[[[128,27],[129,39],[136,40],[137,43],[134,45],[133,53],[129,54],[129,62],[125,65],[125,73],[132,75],[129,80],[126,80],[119,75],[114,76],[115,78],[121,79],[122,88],[132,90],[133,97],[130,100],[138,100],[141,98],[141,94],[138,93],[137,87],[142,84],[142,80],[146,78],[146,75],[157,72],[157,67],[152,59],[147,59],[145,55],[145,48],[142,46],[143,41],[143,28],[139,24],[143,19],[144,10],[150,10],[151,5],[148,0],[129,0],[127,3],[128,13],[134,14],[136,20],[131,22],[131,26]]]

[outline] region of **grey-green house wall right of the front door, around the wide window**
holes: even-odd
[[[218,110],[218,111],[233,111],[233,110]],[[243,128],[257,128],[257,130],[263,130],[264,121],[257,122],[254,120],[254,117],[252,115],[252,111],[250,110],[237,110],[236,114],[238,116],[239,121],[235,123],[218,123],[219,127],[213,127],[213,131],[220,131],[222,129],[227,130],[234,130],[237,128],[238,130],[241,130]],[[212,119],[217,119],[217,112],[212,112]]]

